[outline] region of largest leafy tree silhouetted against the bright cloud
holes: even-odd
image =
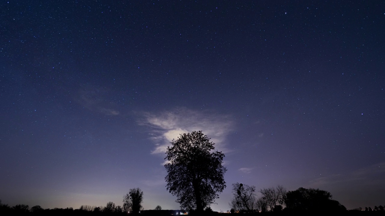
[[[202,212],[226,188],[224,154],[213,151],[214,143],[202,131],[181,134],[171,144],[164,165],[167,190],[182,208]]]

